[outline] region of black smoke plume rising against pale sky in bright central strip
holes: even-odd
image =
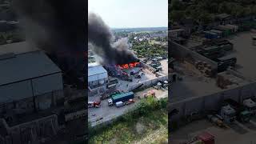
[[[94,52],[102,58],[103,64],[126,64],[137,62],[138,58],[128,50],[126,40],[112,43],[112,33],[98,15],[88,16],[88,40],[94,44]]]

